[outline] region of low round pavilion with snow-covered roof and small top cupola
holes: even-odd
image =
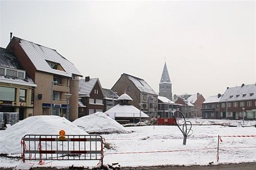
[[[147,120],[148,115],[133,105],[129,104],[129,101],[132,101],[131,97],[127,94],[123,94],[118,97],[118,100],[121,101],[120,104],[115,105],[113,108],[110,108],[105,112],[109,117],[113,118],[115,121],[120,124],[128,123],[137,123],[142,120]]]

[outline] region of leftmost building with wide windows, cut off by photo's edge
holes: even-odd
[[[19,113],[19,120],[33,116],[35,88],[14,53],[0,48],[0,112]]]

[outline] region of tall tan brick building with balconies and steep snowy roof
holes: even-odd
[[[78,118],[79,78],[82,75],[73,63],[56,50],[18,37],[11,39],[7,49],[15,54],[36,84],[35,116],[57,115],[71,121]]]

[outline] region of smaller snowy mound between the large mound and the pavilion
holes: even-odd
[[[78,118],[73,121],[73,124],[89,134],[130,133],[129,130],[102,112]]]

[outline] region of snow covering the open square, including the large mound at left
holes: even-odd
[[[64,129],[66,134],[87,134],[82,131],[85,127],[79,129],[64,118],[44,116],[43,121],[39,120],[42,120],[42,117],[31,117],[30,120],[27,118],[7,130],[0,131],[0,154],[19,156],[21,152],[20,139],[28,133],[58,134],[59,130]],[[106,120],[104,118],[104,121]],[[101,121],[102,119],[99,118],[97,124]],[[187,138],[186,145],[183,145],[183,134],[177,126],[135,126],[125,128],[132,133],[102,134],[105,142],[109,145],[108,148],[104,148],[104,163],[119,163],[121,167],[140,167],[208,165],[211,162],[213,164],[256,162],[256,128],[254,127],[256,121],[245,121],[245,125],[249,127],[242,127],[242,120],[197,118],[197,120],[189,119],[189,121],[198,126],[192,126],[193,133]],[[179,120],[179,123],[181,122]],[[103,128],[93,126],[92,121],[85,122],[85,124],[91,124],[90,130],[93,131]],[[228,125],[236,125],[236,127]],[[109,122],[108,126],[112,126],[112,124]],[[220,142],[219,161],[217,162],[218,135],[221,136],[222,142]],[[246,137],[246,135],[253,135],[253,137]],[[0,167],[15,167],[20,163],[22,161],[19,159],[0,157]],[[43,165],[38,165],[38,161],[27,161],[27,163],[32,167],[60,168],[71,165],[93,167],[98,161],[46,160]]]

